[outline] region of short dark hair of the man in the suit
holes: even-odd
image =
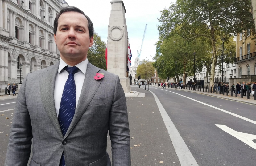
[[[60,15],[65,13],[65,12],[69,12],[69,11],[81,13],[85,16],[85,18],[88,20],[89,36],[91,38],[93,36],[93,22],[91,21],[91,19],[87,15],[85,15],[85,13],[82,10],[78,9],[75,6],[64,7],[60,10],[60,13],[57,14],[57,16],[56,16],[56,18],[54,19],[54,22],[53,22],[53,32],[54,32],[55,36],[56,36],[56,33],[57,33],[57,28],[58,28],[58,22],[59,22]]]

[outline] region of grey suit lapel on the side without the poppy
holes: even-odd
[[[59,63],[57,63],[52,69],[48,70],[48,72],[40,73],[40,94],[44,109],[48,117],[52,121],[52,124],[58,132],[60,138],[63,139],[54,104],[54,86],[58,69]]]

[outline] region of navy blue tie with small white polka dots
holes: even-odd
[[[65,83],[63,94],[60,101],[59,110],[59,123],[62,135],[65,136],[68,131],[68,127],[75,115],[76,110],[76,83],[74,79],[74,74],[77,72],[78,68],[65,67],[64,70],[68,72],[68,80]],[[62,153],[60,159],[60,166],[65,166],[64,152]]]

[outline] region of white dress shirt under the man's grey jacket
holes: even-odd
[[[88,64],[88,59],[86,58],[84,61],[76,65],[76,67],[79,69],[74,75],[74,79],[76,83],[76,107],[77,107],[77,103],[82,91],[82,86],[85,80],[87,64]],[[59,117],[60,101],[61,101],[62,93],[64,90],[64,86],[66,81],[68,80],[68,72],[66,70],[63,70],[63,68],[66,66],[68,66],[68,64],[66,64],[66,62],[64,62],[60,58],[59,70],[55,78],[55,87],[54,87],[54,104],[55,104],[57,117]]]

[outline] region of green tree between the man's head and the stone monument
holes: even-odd
[[[94,33],[93,40],[93,45],[88,49],[87,53],[88,61],[98,68],[107,70],[105,59],[106,43],[101,40],[97,33]]]

